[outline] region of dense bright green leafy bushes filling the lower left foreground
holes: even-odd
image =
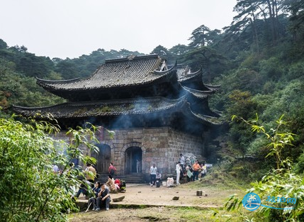
[[[58,129],[47,122],[0,118],[0,221],[67,221],[65,212],[77,210],[71,195],[81,174],[69,163],[74,157],[88,160],[80,147],[96,148],[89,143],[96,140],[94,130],[70,130],[65,143],[48,135]],[[54,163],[62,166],[61,174],[53,173]]]

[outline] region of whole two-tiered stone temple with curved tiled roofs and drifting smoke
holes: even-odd
[[[14,106],[14,111],[26,117],[50,113],[63,132],[86,122],[99,126],[100,152],[92,155],[101,174],[108,172],[110,162],[121,176],[144,178],[153,163],[163,175],[174,174],[180,153],[204,155],[219,122],[219,114],[208,106],[209,94],[218,87],[204,84],[201,70],[167,65],[158,55],[106,60],[88,78],[37,79],[37,84],[67,102]],[[103,128],[114,131],[114,138]]]

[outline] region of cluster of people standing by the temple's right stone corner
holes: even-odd
[[[185,157],[180,154],[179,162],[176,164],[176,185],[179,185],[180,179],[186,174],[186,182],[198,180],[198,175],[201,172],[201,177],[205,177],[207,174],[207,167],[203,162],[201,165],[196,160],[193,165],[186,165]]]

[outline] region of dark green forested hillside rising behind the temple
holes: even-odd
[[[165,48],[158,45],[151,53],[169,63],[203,69],[206,84],[219,84],[220,91],[210,96],[212,109],[222,113],[227,132],[211,150],[210,162],[235,162],[231,172],[258,179],[274,167],[265,158],[270,148],[266,138],[252,133],[246,123],[231,121],[232,115],[244,120],[259,118],[266,131],[274,128],[283,115],[284,131],[293,133],[293,145],[282,150],[295,169],[304,169],[304,1],[237,1],[237,16],[223,30],[201,25],[189,33],[188,45]],[[9,46],[0,40],[1,116],[11,114],[13,104],[48,106],[62,102],[35,83],[43,79],[88,77],[106,59],[142,55],[128,50],[97,49],[90,55],[62,60],[28,52],[26,46]],[[216,152],[215,152],[216,151]],[[257,164],[237,165],[247,157]]]

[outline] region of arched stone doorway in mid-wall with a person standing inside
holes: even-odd
[[[138,173],[142,172],[142,149],[130,147],[125,150],[125,174],[137,173],[137,160],[140,162]]]

